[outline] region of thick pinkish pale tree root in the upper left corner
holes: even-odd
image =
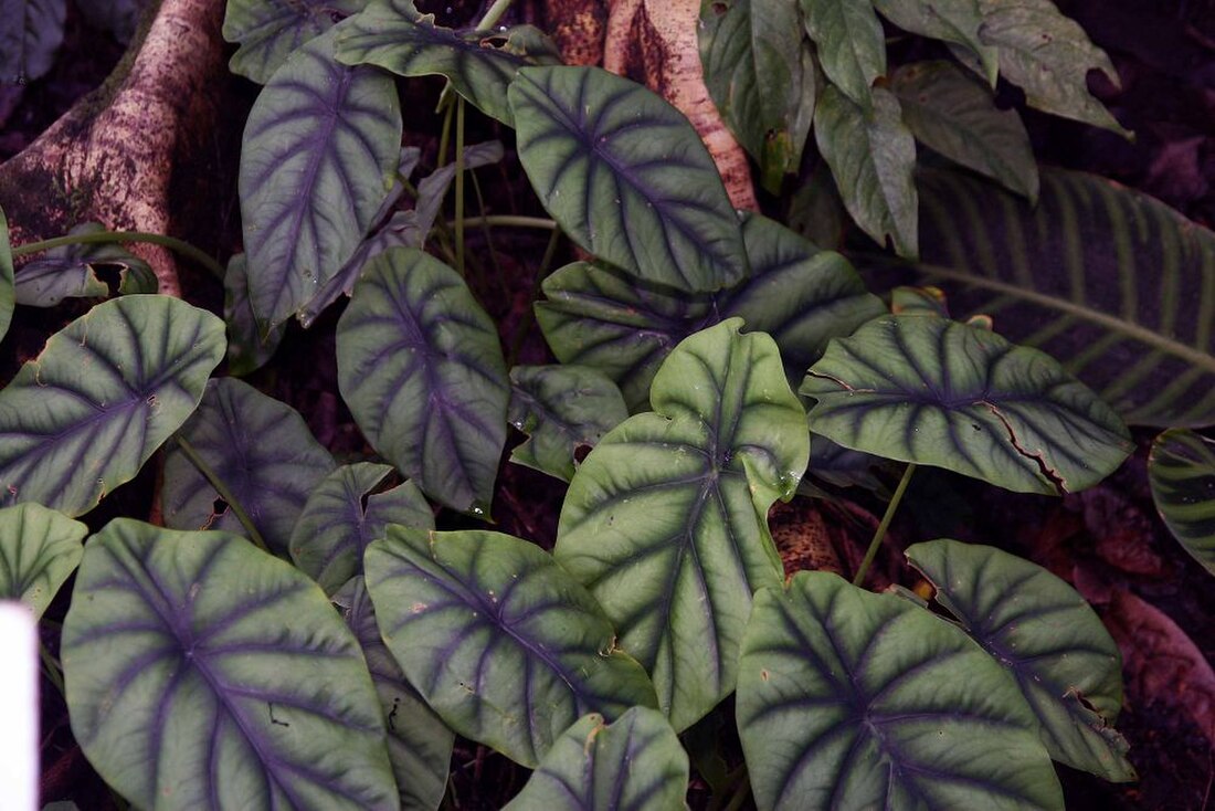
[[[106,83],[23,152],[0,165],[0,207],[15,244],[98,221],[111,230],[171,233],[170,184],[211,142],[226,77],[224,0],[163,0]],[[164,248],[131,246],[160,292],[180,295]]]

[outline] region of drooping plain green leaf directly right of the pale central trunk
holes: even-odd
[[[759,164],[764,187],[779,193],[801,164],[818,90],[797,5],[701,0],[699,35],[713,103]]]

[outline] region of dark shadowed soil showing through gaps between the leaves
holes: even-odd
[[[473,13],[457,7],[459,4],[447,5],[451,11],[445,7],[440,13]],[[1215,2],[1066,0],[1058,5],[1112,56],[1123,88],[1118,90],[1097,75],[1091,77],[1092,86],[1137,139],[1129,143],[1109,133],[1030,112],[1025,120],[1040,159],[1113,178],[1159,197],[1197,223],[1215,226]],[[0,160],[27,146],[75,98],[98,85],[123,53],[119,43],[91,30],[72,4],[68,7],[64,46],[51,73],[21,89],[0,86]],[[435,85],[411,83],[405,91],[408,100],[403,107],[413,111],[407,140],[423,147],[425,159],[433,162],[434,134],[440,126],[430,113]],[[255,92],[252,85],[233,81],[230,116],[217,139],[220,171],[230,179],[236,176],[241,122]],[[470,141],[498,137],[508,145],[509,157],[501,167],[479,173],[487,210],[542,214],[520,181],[522,173],[509,151],[510,133],[493,123],[477,126]],[[217,210],[221,215],[209,221],[207,233],[182,236],[226,259],[239,246],[234,181]],[[546,243],[546,236],[532,232],[496,232],[491,248],[485,235],[469,235],[469,253],[485,265],[485,272],[476,275],[480,282],[475,292],[502,325],[507,347],[522,334],[521,362],[548,360],[530,316]],[[192,298],[204,305],[219,306],[219,292],[204,275],[193,276],[185,287],[187,294],[197,291]],[[11,351],[0,362],[0,371],[11,374],[17,362],[36,353],[50,331],[74,315],[69,310],[53,315],[18,310],[6,344]],[[315,434],[340,458],[368,449],[334,395],[337,316],[337,311],[327,314],[307,332],[292,325],[288,342],[295,350],[255,373],[250,382],[301,410]],[[1215,782],[1215,674],[1210,670],[1215,663],[1215,588],[1155,516],[1143,463],[1152,435],[1143,432],[1136,439],[1140,450],[1132,463],[1100,488],[1064,500],[995,494],[946,473],[917,474],[908,502],[931,507],[909,508],[895,522],[877,562],[877,581],[914,585],[914,573],[899,563],[899,550],[915,540],[949,536],[1002,546],[1073,582],[1097,608],[1123,649],[1126,698],[1118,727],[1130,743],[1129,758],[1140,779],[1115,785],[1061,767],[1068,807],[1205,809]],[[96,528],[114,514],[147,514],[154,489],[154,467],[148,466],[86,520]],[[563,495],[564,488],[554,479],[504,464],[496,505],[498,529],[550,547]],[[826,547],[815,546],[815,564],[847,573],[855,565],[857,550],[864,548],[882,503],[863,495],[847,508],[798,501],[781,509],[779,536],[791,550],[790,559],[793,547],[808,542],[807,528],[830,526],[831,553],[823,558]],[[440,516],[440,524],[471,525],[469,519],[447,514]],[[56,654],[53,621],[62,620],[69,592],[69,587],[63,588],[47,613],[52,623],[45,641]],[[63,700],[50,683],[44,683],[43,717],[44,801],[74,800],[85,811],[125,807],[81,755]],[[729,719],[729,708],[719,709],[695,734],[718,740],[727,766],[733,768],[741,755]],[[712,772],[700,762],[703,773]],[[484,747],[459,740],[447,807],[501,807],[526,776],[525,770]],[[708,798],[708,782],[696,778],[689,802],[702,809]]]

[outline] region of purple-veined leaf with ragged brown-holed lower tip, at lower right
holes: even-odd
[[[1084,597],[1046,569],[990,546],[915,544],[908,561],[1017,680],[1051,758],[1108,781],[1132,781],[1126,740],[1113,730],[1123,659]]]

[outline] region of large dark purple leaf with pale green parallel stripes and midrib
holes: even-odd
[[[990,315],[1129,423],[1215,423],[1215,233],[1102,178],[1041,179],[1030,208],[971,176],[923,173],[921,263],[875,281],[943,288],[955,317]]]

